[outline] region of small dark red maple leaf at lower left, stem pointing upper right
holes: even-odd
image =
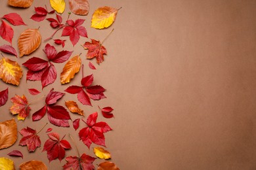
[[[28,146],[29,152],[34,152],[37,147],[41,146],[40,137],[37,135],[37,131],[27,127],[20,130],[20,134],[23,136],[20,139],[20,145]]]

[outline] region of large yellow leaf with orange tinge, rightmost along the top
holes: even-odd
[[[116,20],[117,11],[118,9],[106,6],[96,9],[91,19],[91,27],[98,29],[109,27]]]

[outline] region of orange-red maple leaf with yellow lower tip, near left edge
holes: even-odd
[[[30,113],[30,107],[25,95],[15,95],[11,98],[13,105],[10,107],[12,115],[18,114],[18,120],[24,120]]]

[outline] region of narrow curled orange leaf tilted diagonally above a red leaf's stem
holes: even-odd
[[[60,82],[66,84],[70,82],[70,79],[74,78],[75,73],[79,71],[81,67],[80,56],[74,56],[68,63],[64,65],[62,73],[60,73]]]

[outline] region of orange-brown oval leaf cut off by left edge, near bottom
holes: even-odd
[[[14,119],[0,123],[0,149],[12,146],[17,140],[17,124]]]

